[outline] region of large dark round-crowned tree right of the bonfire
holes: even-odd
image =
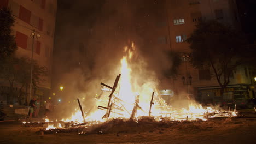
[[[232,71],[251,58],[245,36],[231,26],[206,21],[196,26],[187,42],[192,50],[191,64],[196,68],[213,70],[223,99]]]

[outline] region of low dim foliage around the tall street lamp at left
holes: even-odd
[[[0,65],[0,78],[9,82],[9,99],[18,96],[19,103],[21,102],[22,95],[27,96],[27,88],[30,86],[31,76],[31,61],[27,57],[17,58],[10,56],[5,58],[5,61]],[[37,88],[42,81],[43,77],[48,75],[46,67],[42,67],[33,61],[33,79],[32,86]],[[14,84],[19,85],[18,95],[14,93]]]

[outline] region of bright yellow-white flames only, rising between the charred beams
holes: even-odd
[[[136,78],[139,76],[132,76],[131,63],[133,62],[133,58],[136,56],[136,47],[132,42],[131,47],[124,47],[124,52],[126,53],[121,59],[121,67],[120,67],[120,80],[119,86],[117,88],[117,92],[114,93],[116,99],[112,99],[112,112],[110,113],[110,118],[124,117],[130,118],[131,113],[135,105],[139,106],[137,109],[135,120],[139,119],[140,116],[149,116],[149,107],[150,100],[152,96],[152,92],[155,91],[154,95],[154,105],[152,105],[150,116],[155,117],[156,121],[160,121],[161,117],[167,117],[171,120],[194,120],[194,119],[202,119],[206,121],[207,117],[213,117],[215,113],[220,113],[216,109],[212,109],[211,107],[203,108],[201,105],[196,103],[188,104],[188,109],[175,109],[172,106],[166,104],[165,100],[161,98],[161,95],[154,88],[155,82],[148,81],[143,83],[143,85],[139,85],[139,80]],[[132,63],[137,64],[137,63]],[[111,89],[107,87],[103,87],[102,91],[110,92]],[[117,100],[117,98],[119,100]],[[106,105],[106,99],[100,99],[97,97],[97,104]],[[108,97],[107,97],[108,99]],[[119,109],[117,109],[119,107]],[[74,124],[84,123],[84,118],[81,115],[80,109],[75,109],[74,114],[68,119],[62,119],[63,122],[73,122]],[[85,127],[89,127],[91,125],[104,122],[106,119],[102,119],[102,116],[106,114],[106,110],[95,110],[86,116],[86,125]],[[221,113],[222,114],[222,113]],[[224,112],[224,114],[220,116],[236,116],[236,111]],[[57,121],[57,120],[56,120]],[[45,119],[45,122],[49,122],[49,119]],[[49,125],[46,130],[62,128],[59,123],[56,127],[54,125]]]

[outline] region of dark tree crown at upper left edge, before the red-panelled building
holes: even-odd
[[[15,37],[11,35],[14,17],[9,8],[0,9],[0,62],[13,55],[17,49]]]

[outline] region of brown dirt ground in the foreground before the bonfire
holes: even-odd
[[[256,114],[237,118],[213,118],[208,121],[170,122],[168,124],[131,125],[129,130],[106,134],[78,135],[54,133],[40,135],[42,127],[20,122],[0,122],[0,143],[256,143]],[[148,127],[152,128],[148,128]],[[136,127],[136,128],[135,128]]]

